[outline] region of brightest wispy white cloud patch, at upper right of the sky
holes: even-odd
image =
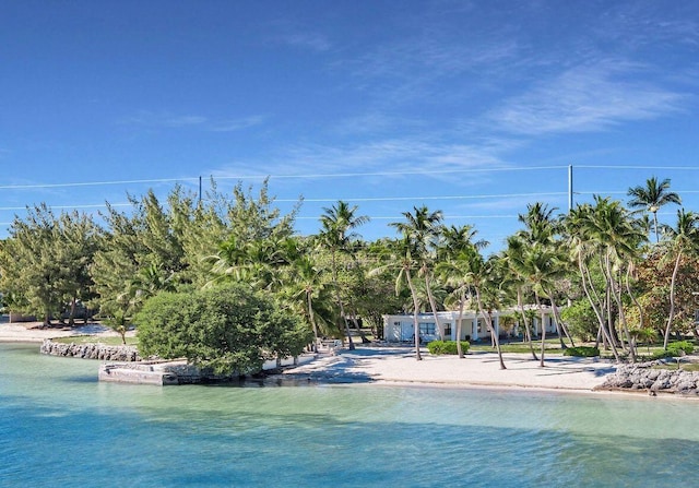
[[[687,95],[633,81],[640,67],[602,62],[570,69],[507,99],[486,119],[516,134],[587,132],[682,110]]]

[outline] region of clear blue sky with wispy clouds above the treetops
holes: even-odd
[[[270,176],[300,234],[427,204],[490,250],[569,165],[576,202],[657,176],[699,211],[698,2],[5,1],[0,60],[0,237],[200,176]]]

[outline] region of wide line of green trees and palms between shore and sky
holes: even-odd
[[[537,352],[524,305],[547,306],[561,347],[595,341],[635,360],[640,342],[660,336],[667,347],[673,332],[697,333],[699,218],[679,207],[674,225],[659,224],[662,206],[682,204],[670,180],[650,178],[628,195],[626,204],[595,195],[567,214],[532,203],[521,229],[488,257],[473,226],[447,226],[426,206],[391,224],[398,237],[366,241],[358,229],[368,217],[339,201],[323,209],[317,234],[299,236],[303,202],[282,214],[266,181],[257,194],[241,183],[224,194],[212,181],[204,199],[181,187],[163,202],[153,191],[131,195],[131,212],[107,204],[104,224],[39,204],[15,216],[0,243],[0,290],[5,309],[47,325],[72,324],[82,306],[126,331],[145,320],[153,297],[234,283],[272,298],[308,337],[345,337],[350,348],[353,330],[380,335],[383,314],[414,313],[417,359],[418,312],[439,325],[439,310],[477,310],[499,353],[490,313],[512,308],[542,366],[545,330]]]

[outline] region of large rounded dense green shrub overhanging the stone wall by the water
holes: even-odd
[[[297,356],[312,341],[292,312],[235,284],[158,294],[134,321],[142,357],[185,357],[217,374],[260,371],[264,360]]]

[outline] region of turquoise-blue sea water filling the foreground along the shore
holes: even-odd
[[[135,386],[0,344],[0,486],[691,485],[699,402],[378,385]]]

